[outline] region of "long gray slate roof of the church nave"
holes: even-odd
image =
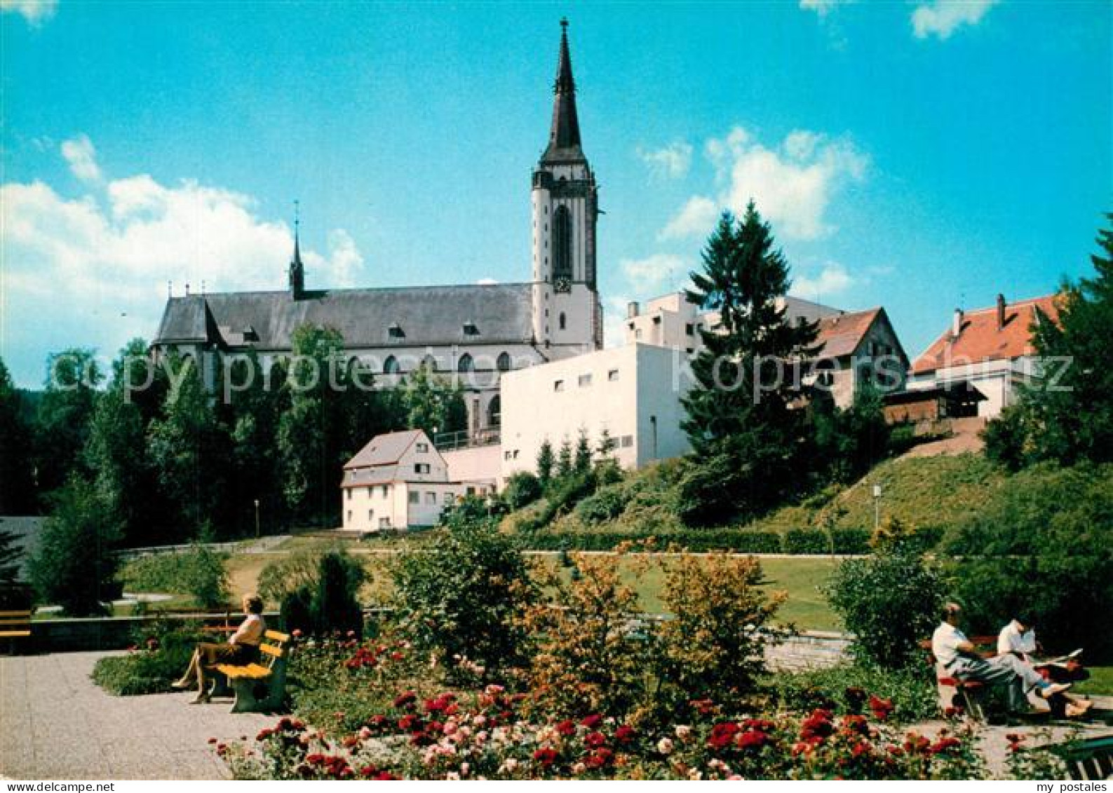
[[[474,323],[479,335],[465,335]],[[289,349],[302,325],[338,330],[347,349],[450,344],[522,344],[533,336],[529,284],[214,293],[171,297],[154,344],[213,341]],[[390,336],[392,325],[405,334]]]

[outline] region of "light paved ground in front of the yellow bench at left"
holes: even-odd
[[[0,657],[0,776],[220,780],[208,739],[254,737],[274,716],[229,713],[191,693],[111,696],[89,680],[111,653]]]

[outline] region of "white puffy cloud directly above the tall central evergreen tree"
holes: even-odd
[[[787,238],[827,236],[835,230],[826,218],[831,196],[865,178],[869,163],[849,138],[809,130],[794,130],[779,146],[768,148],[736,127],[726,138],[709,140],[705,151],[716,167],[717,200],[688,199],[661,231],[662,238],[707,235],[718,207],[741,214],[750,199]]]

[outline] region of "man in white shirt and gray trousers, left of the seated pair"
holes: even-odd
[[[961,618],[962,606],[947,603],[943,606],[943,622],[932,634],[932,653],[949,674],[964,681],[1006,685],[1011,711],[1027,710],[1026,694],[1033,688],[1046,700],[1071,687],[1066,683],[1048,683],[1030,664],[1011,653],[983,658],[958,630]]]

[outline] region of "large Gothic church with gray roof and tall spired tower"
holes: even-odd
[[[306,287],[298,234],[280,291],[171,296],[154,355],[177,350],[215,387],[223,358],[254,351],[264,369],[290,354],[303,325],[344,337],[348,363],[394,386],[426,366],[464,387],[469,434],[496,436],[502,373],[601,349],[595,177],[583,153],[575,81],[561,20],[549,145],[533,169],[532,269],[518,284],[376,289]]]

